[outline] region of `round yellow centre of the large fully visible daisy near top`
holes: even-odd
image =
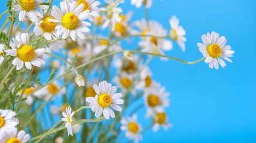
[[[76,14],[67,13],[62,17],[62,26],[68,30],[74,30],[79,24],[79,19]]]

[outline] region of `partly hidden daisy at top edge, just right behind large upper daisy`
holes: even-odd
[[[83,11],[89,10],[90,11],[90,16],[89,16],[89,20],[90,21],[94,21],[94,18],[100,17],[100,8],[98,8],[98,5],[100,5],[101,3],[99,1],[95,1],[95,0],[69,0],[69,2],[73,3],[74,1],[77,2],[77,7],[80,4],[83,4]]]

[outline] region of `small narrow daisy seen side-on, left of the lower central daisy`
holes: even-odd
[[[64,116],[64,118],[62,118],[61,120],[64,121],[64,122],[67,122],[65,124],[65,128],[68,129],[68,136],[71,135],[73,136],[73,130],[72,130],[72,122],[73,122],[73,115],[74,115],[74,111],[71,113],[71,107],[68,106],[66,108],[66,113],[65,112],[62,112],[62,115]]]

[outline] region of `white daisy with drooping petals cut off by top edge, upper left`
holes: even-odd
[[[49,8],[48,5],[43,5],[41,3],[44,2],[44,0],[19,0],[19,4],[14,5],[13,10],[14,11],[20,11],[19,13],[19,20],[23,21],[25,20],[26,15],[29,17],[29,20],[32,22],[37,23],[38,22],[38,16],[43,17],[43,14],[41,14],[36,9],[39,8],[40,10],[47,10]]]

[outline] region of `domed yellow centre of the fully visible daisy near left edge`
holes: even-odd
[[[21,46],[17,49],[17,57],[22,61],[31,61],[35,57],[35,50],[29,45]]]

